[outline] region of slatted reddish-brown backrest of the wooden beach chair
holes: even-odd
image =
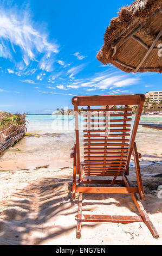
[[[135,135],[137,133],[144,94],[75,96],[72,99],[75,111],[75,132],[77,151],[77,173],[80,174],[80,144],[78,106],[84,116],[84,175],[111,176],[128,175]],[[105,108],[94,108],[103,106]],[[109,108],[109,106],[123,108]],[[130,133],[132,108],[137,105],[132,134]],[[131,137],[131,138],[130,138]]]

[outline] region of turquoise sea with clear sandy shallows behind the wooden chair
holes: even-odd
[[[82,117],[80,116],[80,121]],[[132,118],[134,120],[134,117]],[[49,170],[72,167],[71,148],[75,142],[74,116],[27,115],[28,132],[37,136],[25,136],[10,147],[1,158],[1,170],[35,169],[49,166]],[[141,117],[141,123],[160,123],[162,117]],[[82,122],[80,122],[82,128]],[[133,121],[130,123],[131,129]],[[135,141],[142,154],[140,165],[158,164],[162,161],[162,131],[139,125]],[[83,161],[83,132],[80,132],[80,152]],[[134,166],[131,161],[130,166]],[[160,167],[159,167],[160,172]]]

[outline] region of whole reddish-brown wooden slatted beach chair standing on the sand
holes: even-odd
[[[74,143],[71,154],[74,161],[73,199],[75,199],[75,193],[79,193],[78,214],[75,216],[77,238],[81,237],[82,222],[117,222],[124,224],[144,222],[153,237],[159,237],[137,196],[139,194],[140,199],[145,200],[139,166],[141,154],[138,153],[135,144],[135,135],[144,101],[145,95],[143,94],[75,96],[72,99],[76,133],[76,143]],[[101,108],[103,105],[106,107]],[[110,105],[122,105],[124,107],[109,108]],[[138,105],[132,132],[131,124],[128,123],[132,120],[132,109],[128,105]],[[80,162],[78,106],[85,107],[83,109],[84,162]],[[93,106],[100,107],[95,108]],[[127,178],[131,155],[133,155],[135,162],[137,187],[132,187]],[[77,181],[76,175],[79,175]],[[94,176],[100,176],[100,179],[96,179]],[[108,179],[108,176],[112,176],[112,179]],[[104,177],[104,179],[101,179],[101,177]],[[96,184],[98,186],[95,186]],[[107,184],[107,186],[102,186],[102,184]],[[137,206],[139,215],[83,215],[83,193],[130,194]]]

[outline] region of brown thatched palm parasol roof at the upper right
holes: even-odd
[[[112,19],[96,58],[125,72],[161,73],[161,39],[162,0],[136,0]]]

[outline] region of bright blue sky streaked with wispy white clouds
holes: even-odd
[[[109,22],[132,0],[0,0],[0,110],[48,114],[75,95],[161,90],[157,73],[96,59]]]

